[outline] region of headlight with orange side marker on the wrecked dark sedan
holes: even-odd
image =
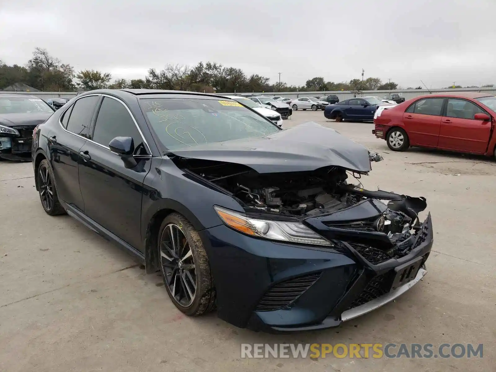
[[[291,243],[333,246],[300,222],[260,220],[218,206],[214,206],[214,209],[227,226],[250,236]]]

